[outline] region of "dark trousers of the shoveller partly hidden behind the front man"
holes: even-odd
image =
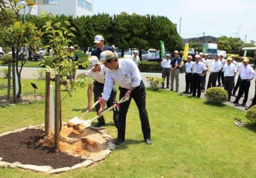
[[[94,86],[93,86],[94,103],[98,100],[98,97],[102,97],[101,94],[103,93],[103,89],[104,89],[104,84],[94,81]],[[116,89],[115,85],[113,85],[113,88],[112,88],[112,91],[110,94],[110,98],[107,101],[107,107],[108,108],[111,107],[113,105],[113,102],[116,102],[116,101],[117,101],[117,89]],[[96,108],[96,112],[98,115],[98,111],[100,109],[100,104],[97,104],[95,106],[95,108]],[[113,109],[113,121],[114,121],[115,125],[117,125],[117,118],[118,118],[118,110]],[[105,122],[104,116],[98,118],[98,122],[104,123]]]

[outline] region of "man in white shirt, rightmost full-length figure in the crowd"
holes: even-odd
[[[245,92],[245,96],[243,99],[243,103],[241,104],[242,106],[246,105],[246,102],[248,100],[248,94],[249,94],[249,89],[251,86],[251,80],[256,77],[256,73],[253,70],[253,68],[249,65],[249,59],[244,58],[243,60],[243,68],[241,69],[240,77],[241,77],[241,83],[239,86],[239,91],[238,95],[232,103],[238,104],[241,96],[243,95],[243,92]]]

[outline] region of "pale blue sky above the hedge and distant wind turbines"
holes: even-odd
[[[93,14],[123,11],[166,16],[177,24],[182,38],[227,36],[256,41],[255,0],[93,0]]]

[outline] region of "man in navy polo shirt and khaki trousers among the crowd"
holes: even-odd
[[[171,60],[171,89],[173,91],[173,84],[175,79],[175,91],[179,91],[179,75],[180,75],[180,67],[181,67],[181,58],[179,56],[179,52],[177,50],[174,51],[174,58]]]

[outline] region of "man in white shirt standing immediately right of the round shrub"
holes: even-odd
[[[232,58],[227,58],[227,64],[223,66],[224,72],[224,90],[228,92],[228,101],[230,101],[232,95],[232,88],[234,85],[234,77],[237,74],[237,68],[231,63]]]

